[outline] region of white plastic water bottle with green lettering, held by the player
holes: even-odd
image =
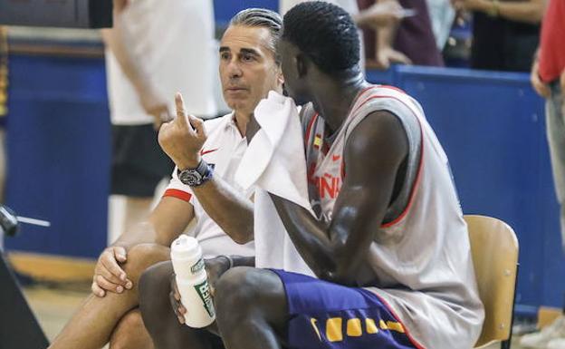
[[[187,308],[185,324],[194,328],[212,324],[215,320],[214,303],[208,286],[202,248],[196,238],[181,235],[173,241],[171,260],[180,300]]]

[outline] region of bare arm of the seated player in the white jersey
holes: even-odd
[[[304,208],[271,195],[304,261],[320,278],[343,285],[356,283],[408,153],[403,126],[388,111],[372,112],[352,132],[344,150],[347,174],[328,227]]]

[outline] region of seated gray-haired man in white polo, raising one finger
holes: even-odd
[[[109,341],[110,348],[152,348],[139,314],[139,276],[147,267],[169,260],[171,242],[193,219],[196,228],[191,235],[208,258],[210,275],[230,266],[254,264],[253,190],[237,186],[234,175],[247,149],[245,131],[255,106],[269,91],[282,92],[282,73],[274,53],[281,22],[271,11],[250,9],[235,15],[226,30],[219,70],[224,99],[233,112],[201,121],[186,114],[182,96],[177,95],[177,119],[164,124],[158,136],[161,148],[177,165],[168,189],[147,222],[102,253],[93,294],[51,348],[96,349]],[[200,180],[186,180],[195,173]],[[155,286],[167,287],[168,292],[168,283]],[[154,297],[146,306],[170,308],[167,297]],[[174,315],[144,320],[165,336],[187,328]],[[208,347],[209,336],[200,333],[188,332],[185,343],[195,349]],[[168,338],[154,338],[157,347],[173,347]]]

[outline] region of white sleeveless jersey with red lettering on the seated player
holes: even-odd
[[[331,219],[347,175],[345,144],[372,111],[389,111],[402,122],[410,144],[408,163],[415,161],[417,166],[414,178],[404,184],[406,205],[395,217],[386,217],[374,233],[359,285],[391,308],[418,347],[472,348],[481,332],[484,309],[467,227],[445,151],[419,103],[392,87],[369,87],[359,93],[329,149],[323,149],[323,119],[307,106],[302,121],[312,208],[319,218]],[[418,138],[410,125],[420,133]]]

